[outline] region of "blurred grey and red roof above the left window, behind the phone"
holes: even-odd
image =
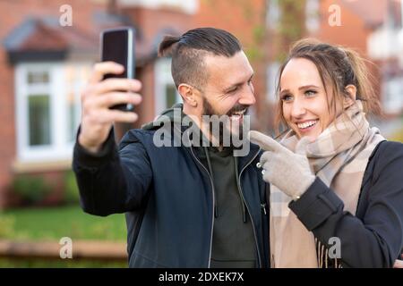
[[[86,30],[74,25],[63,27],[54,16],[22,21],[3,41],[10,62],[63,60],[72,54],[90,54],[98,60],[99,34],[103,29],[133,26],[130,20],[118,15],[94,13],[93,17],[92,29]],[[146,43],[142,39],[141,29],[136,31],[136,64],[141,65],[157,57],[157,46],[155,41]]]

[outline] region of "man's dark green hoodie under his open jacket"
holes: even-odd
[[[174,108],[180,108],[180,116],[174,116]],[[163,114],[171,122],[180,124],[186,116],[183,105],[174,105]],[[158,129],[163,120],[157,118],[143,126],[143,129]],[[179,125],[182,126],[182,125]],[[182,130],[187,128],[183,127]],[[214,229],[211,249],[212,268],[253,268],[256,267],[256,246],[253,238],[253,226],[241,190],[238,188],[238,168],[233,150],[225,147],[193,147],[196,156],[208,170],[214,189]]]

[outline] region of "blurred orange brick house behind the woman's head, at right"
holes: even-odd
[[[403,5],[401,0],[323,0],[321,25],[313,35],[355,48],[376,64],[370,65],[387,117],[403,113]],[[337,4],[340,26],[330,26],[329,7]],[[332,10],[332,13],[335,10]]]

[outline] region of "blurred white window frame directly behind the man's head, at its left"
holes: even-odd
[[[171,59],[159,58],[154,64],[155,93],[154,106],[155,115],[161,114],[167,108],[167,85],[174,85],[175,82],[171,75]],[[176,90],[176,102],[182,101],[181,96]],[[168,106],[170,107],[170,106]]]

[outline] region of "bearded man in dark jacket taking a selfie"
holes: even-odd
[[[130,130],[119,151],[112,124],[135,122],[137,115],[108,106],[138,105],[141,97],[133,92],[141,83],[101,81],[104,74],[123,69],[116,63],[95,65],[81,97],[73,156],[81,205],[90,214],[126,213],[131,267],[267,267],[265,184],[256,168],[259,147],[248,143],[246,156],[234,156],[233,144],[223,144],[224,130],[211,132],[203,116],[227,116],[231,134],[239,135],[244,112],[255,103],[253,69],[238,40],[221,29],[166,37],[159,54],[167,53],[183,98],[179,116],[168,111],[164,116],[173,124],[161,127],[159,120]],[[186,118],[201,130],[201,139],[187,132],[189,126],[182,124]],[[181,139],[192,138],[192,144],[161,147],[156,134],[167,126]],[[205,141],[216,144],[199,144]]]

